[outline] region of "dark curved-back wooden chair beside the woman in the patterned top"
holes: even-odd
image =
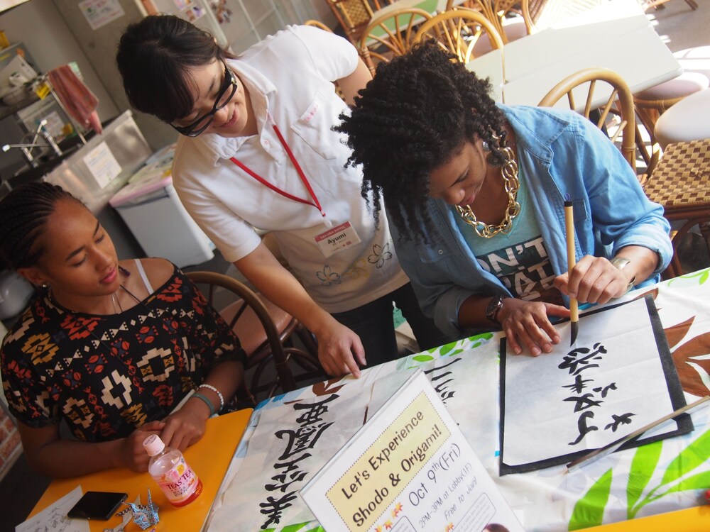
[[[187,277],[239,337],[247,356],[247,388],[256,401],[328,378],[310,332],[293,316],[229,275],[189,272]],[[293,345],[294,333],[305,350]]]

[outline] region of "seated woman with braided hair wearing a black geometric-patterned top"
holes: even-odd
[[[119,261],[60,187],[31,183],[0,201],[0,263],[39,288],[3,340],[0,369],[41,474],[145,471],[147,436],[184,450],[234,405],[246,355],[231,328],[171,262]]]

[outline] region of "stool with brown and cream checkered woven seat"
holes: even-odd
[[[710,139],[667,145],[645,192],[664,207],[668,221],[685,221],[673,236],[673,258],[663,272],[666,279],[677,277],[682,274],[677,248],[692,227],[700,227],[710,248]]]

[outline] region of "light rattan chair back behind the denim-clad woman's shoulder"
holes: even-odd
[[[606,87],[605,87],[606,86]],[[608,90],[611,87],[611,95]],[[538,104],[541,107],[552,107],[564,96],[567,96],[569,109],[577,111],[586,118],[592,111],[599,112],[596,125],[605,128],[609,115],[617,116],[620,120],[616,131],[611,135],[611,140],[617,143],[621,135],[621,153],[628,164],[636,171],[636,122],[633,106],[633,96],[626,82],[621,76],[606,68],[588,68],[568,76],[552,87]],[[576,103],[576,97],[584,98],[584,106]],[[606,100],[603,104],[592,105],[595,99],[602,96]],[[596,118],[596,117],[595,117]]]

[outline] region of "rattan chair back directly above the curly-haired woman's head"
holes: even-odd
[[[423,38],[435,38],[442,48],[456,54],[459,61],[467,63],[476,57],[476,43],[484,35],[491,49],[503,48],[501,35],[498,35],[488,18],[473,9],[459,8],[439,13],[423,23],[415,40],[419,42]]]

